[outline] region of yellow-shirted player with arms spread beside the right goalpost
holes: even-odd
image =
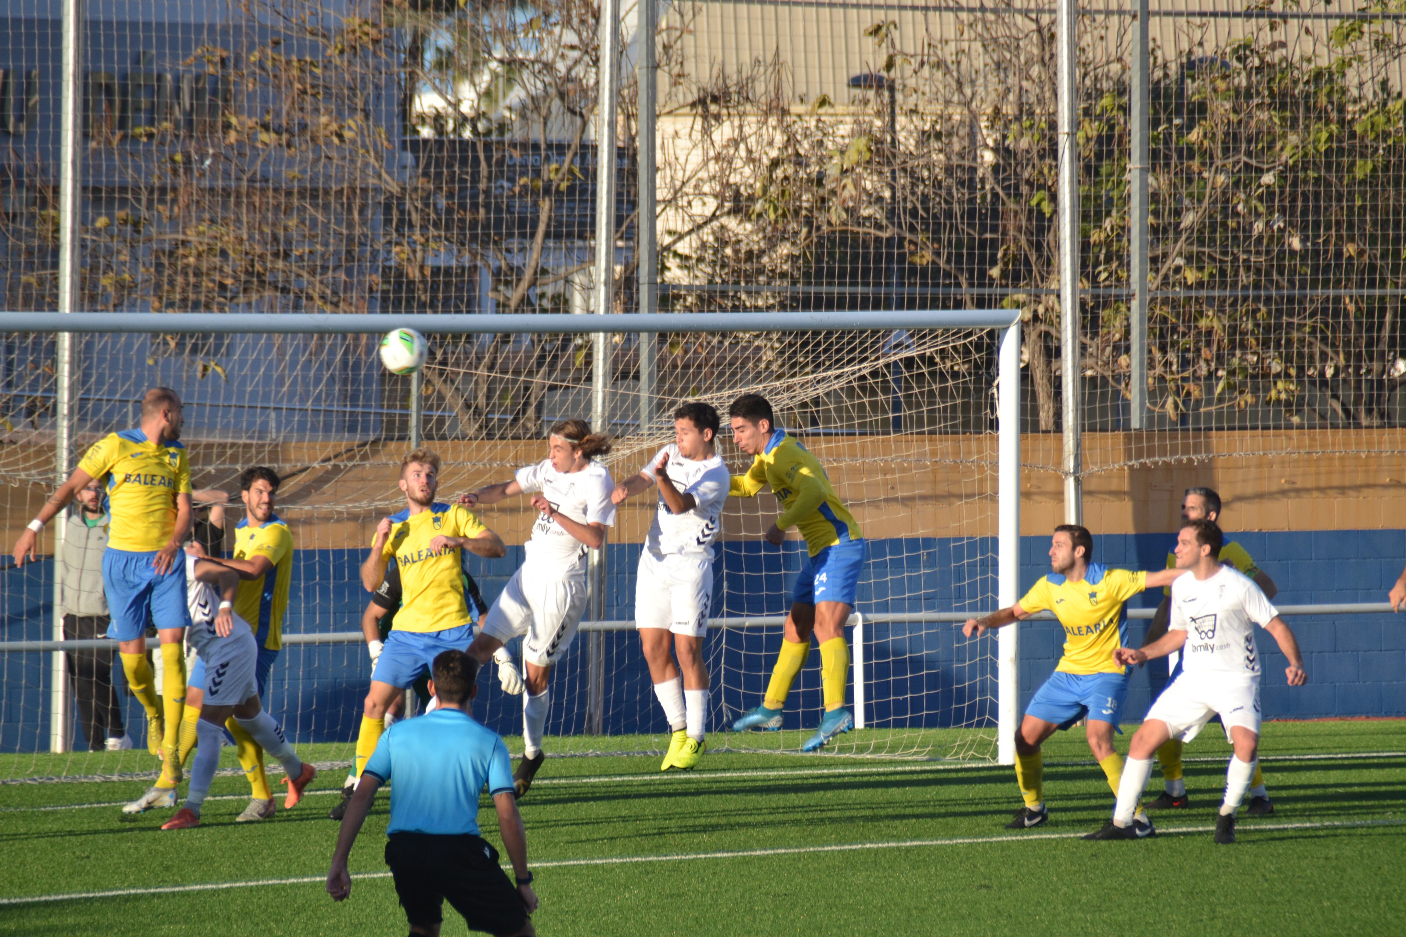
[[[1088,718],[1084,730],[1088,750],[1118,794],[1123,759],[1114,750],[1118,715],[1128,698],[1129,670],[1114,662],[1114,650],[1126,646],[1128,614],[1123,604],[1146,589],[1170,586],[1181,569],[1133,573],[1091,562],[1094,538],[1077,524],[1060,524],[1050,538],[1050,573],[1021,601],[986,618],[970,618],[962,627],[967,638],[1053,611],[1064,627],[1064,655],[1054,673],[1035,691],[1025,707],[1025,719],[1015,733],[1015,781],[1025,799],[1005,829],[1024,830],[1049,820],[1045,806],[1045,764],[1040,745],[1060,729]],[[1150,836],[1147,818],[1137,811],[1135,829]]]

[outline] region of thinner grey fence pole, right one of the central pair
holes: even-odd
[[[638,70],[638,103],[640,103],[640,133],[636,143],[636,167],[638,170],[638,215],[636,218],[636,264],[640,284],[640,312],[650,313],[659,309],[659,257],[655,204],[655,117],[658,110],[658,63],[655,62],[654,39],[658,32],[655,0],[640,0],[638,31],[636,46],[640,51]],[[658,334],[641,332],[638,341],[640,353],[640,433],[647,433],[654,423],[654,376],[655,357],[658,353]]]

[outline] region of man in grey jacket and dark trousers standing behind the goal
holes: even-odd
[[[110,518],[103,510],[100,482],[79,489],[63,530],[63,639],[107,636],[110,621],[103,593],[103,551]],[[112,686],[112,650],[72,650],[69,684],[79,702],[79,725],[93,752],[132,747],[122,726],[122,705]]]

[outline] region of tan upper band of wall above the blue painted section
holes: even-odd
[[[828,468],[830,478],[855,513],[866,537],[955,537],[995,532],[994,437],[803,437]],[[1291,455],[1313,444],[1353,454]],[[444,459],[441,496],[503,480],[512,469],[543,458],[541,441],[433,443]],[[1084,517],[1097,534],[1171,530],[1181,492],[1209,485],[1225,497],[1225,520],[1234,530],[1376,530],[1406,527],[1406,433],[1337,431],[1323,435],[1285,433],[1088,434],[1085,464],[1133,462],[1085,476]],[[42,445],[7,447],[7,466],[42,466]],[[1376,450],[1375,452],[1369,450]],[[259,443],[190,444],[197,485],[235,494],[238,468],[271,464],[290,473],[281,510],[305,548],[354,546],[370,541],[375,520],[399,510],[396,465],[405,444]],[[1194,458],[1195,452],[1220,452]],[[1241,455],[1243,452],[1247,452]],[[748,459],[730,445],[734,471]],[[1022,440],[1021,531],[1047,532],[1063,520],[1059,473],[1060,437],[1029,434]],[[647,458],[617,459],[619,478]],[[218,462],[229,468],[205,468]],[[1152,462],[1152,464],[1149,464]],[[4,489],[0,521],[6,545],[39,509],[45,490],[11,483]],[[640,542],[654,497],[640,496],[620,509],[616,542]],[[769,494],[730,499],[724,538],[756,538],[778,513]],[[526,499],[484,510],[484,520],[510,544],[526,539],[533,513]]]

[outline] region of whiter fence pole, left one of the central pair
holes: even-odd
[[[607,316],[614,306],[614,194],[616,194],[616,89],[620,79],[620,4],[600,0],[599,24],[600,62],[598,65],[596,104],[596,264],[595,309]],[[610,333],[593,333],[591,375],[591,428],[607,433],[610,428],[609,393],[613,376]],[[588,596],[591,617],[606,617],[607,545],[589,551]],[[605,635],[595,632],[588,642],[586,674],[586,733],[600,735],[605,728]]]

